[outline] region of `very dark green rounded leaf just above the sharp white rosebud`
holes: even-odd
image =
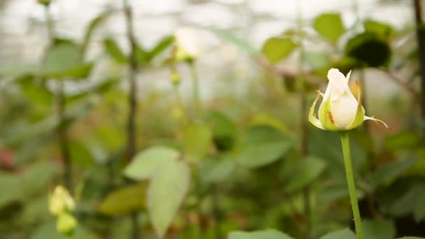
[[[391,58],[391,48],[376,34],[365,32],[347,42],[345,54],[370,67],[386,66]]]

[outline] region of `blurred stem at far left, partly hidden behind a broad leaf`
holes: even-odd
[[[55,45],[55,33],[54,33],[54,22],[52,20],[52,15],[50,15],[49,4],[45,5],[45,20],[48,29],[48,38],[50,41],[50,47]],[[58,120],[58,125],[56,127],[56,134],[58,138],[58,146],[60,154],[62,156],[62,162],[64,164],[64,184],[69,191],[73,191],[73,179],[72,179],[72,166],[71,166],[71,153],[69,152],[69,141],[68,135],[66,132],[66,126],[64,125],[66,121],[65,113],[65,95],[64,95],[64,79],[59,79],[58,89],[56,97],[56,115]]]

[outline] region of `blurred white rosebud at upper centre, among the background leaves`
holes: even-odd
[[[175,59],[178,61],[193,61],[199,57],[199,47],[196,31],[189,27],[177,29],[175,38]]]

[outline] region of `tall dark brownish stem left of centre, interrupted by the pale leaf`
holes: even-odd
[[[129,115],[127,118],[127,162],[133,159],[136,154],[136,110],[137,110],[137,61],[136,61],[136,38],[133,31],[133,12],[128,0],[122,0],[124,6],[124,16],[127,23],[127,38],[130,45],[129,54]],[[132,238],[141,238],[141,232],[138,226],[138,213],[131,214]]]

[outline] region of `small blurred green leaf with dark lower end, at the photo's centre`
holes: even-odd
[[[231,150],[236,144],[236,124],[218,111],[208,111],[205,120],[212,127],[212,139],[220,151]]]

